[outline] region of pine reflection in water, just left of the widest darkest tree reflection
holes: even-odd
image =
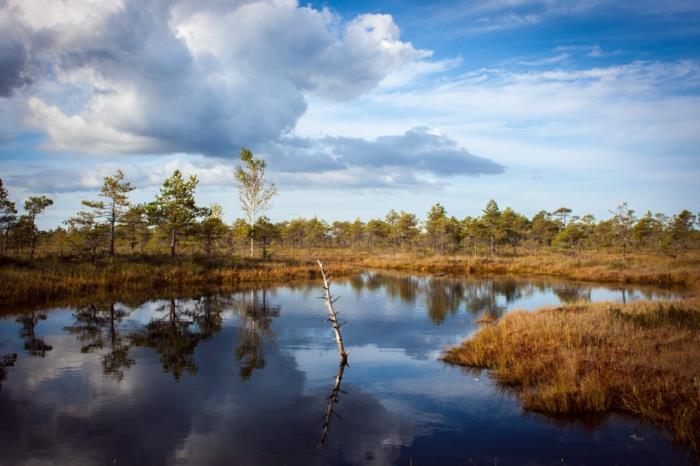
[[[121,380],[124,369],[134,364],[129,357],[130,343],[119,329],[121,321],[129,315],[123,308],[117,309],[114,301],[93,303],[73,312],[73,325],[64,330],[75,335],[82,353],[107,351],[100,357],[105,375]]]

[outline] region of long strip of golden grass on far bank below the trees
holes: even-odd
[[[243,283],[317,278],[315,259],[337,273],[391,269],[458,276],[522,274],[656,286],[700,287],[700,254],[679,258],[587,252],[576,256],[533,252],[515,257],[362,252],[350,249],[277,251],[261,261],[235,257],[117,256],[92,263],[80,258],[42,257],[34,262],[0,258],[0,305],[45,302],[98,290],[161,290],[234,287]]]

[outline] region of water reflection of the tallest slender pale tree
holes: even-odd
[[[272,318],[279,316],[280,306],[267,304],[267,290],[263,288],[261,293],[252,290],[248,296],[242,294],[234,309],[241,318],[240,343],[236,347],[236,357],[242,362],[239,375],[247,379],[255,369],[265,367],[263,339],[272,339]]]

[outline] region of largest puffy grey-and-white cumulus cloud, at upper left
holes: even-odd
[[[26,122],[80,152],[231,155],[292,130],[307,95],[355,98],[431,55],[389,15],[342,22],[291,0],[0,8],[21,38],[0,48],[0,95],[31,80]]]

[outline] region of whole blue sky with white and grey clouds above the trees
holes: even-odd
[[[700,211],[700,2],[0,0],[0,179],[53,228],[122,169],[273,221]]]

